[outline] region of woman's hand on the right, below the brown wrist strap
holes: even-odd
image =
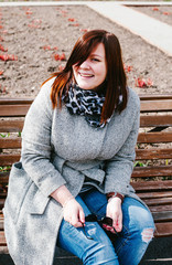
[[[117,232],[120,232],[122,230],[121,200],[119,198],[116,197],[109,199],[106,209],[106,216],[112,219],[112,226]]]

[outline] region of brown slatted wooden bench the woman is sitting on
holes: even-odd
[[[172,235],[172,95],[140,95],[141,118],[131,184],[149,205],[154,236]],[[0,254],[8,253],[2,208],[10,167],[20,159],[21,130],[32,99],[0,99]],[[139,167],[138,167],[139,166]]]

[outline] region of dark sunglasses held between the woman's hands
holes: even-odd
[[[97,222],[103,229],[104,231],[108,234],[108,236],[110,237],[111,240],[111,236],[110,235],[117,235],[119,236],[118,232],[116,231],[116,229],[112,226],[112,219],[110,218],[103,218],[100,220],[98,220],[97,215],[95,214],[89,214],[85,218],[85,222]],[[86,230],[85,230],[85,224],[83,223],[83,230],[84,230],[84,234],[85,236],[88,239],[88,240],[94,240],[90,235],[88,235],[86,233]]]

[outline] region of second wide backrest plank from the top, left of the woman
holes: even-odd
[[[19,132],[23,129],[24,120],[0,120],[0,131],[1,132]]]

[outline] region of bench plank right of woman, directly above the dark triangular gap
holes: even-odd
[[[140,127],[166,127],[172,126],[172,115],[141,115]]]

